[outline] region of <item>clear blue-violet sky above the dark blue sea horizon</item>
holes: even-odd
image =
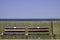
[[[60,18],[60,0],[0,0],[0,19]]]

